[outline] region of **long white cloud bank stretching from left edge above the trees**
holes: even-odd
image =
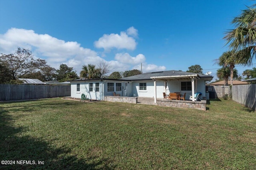
[[[33,30],[11,28],[0,35],[1,53],[13,53],[17,47],[31,50],[36,57],[46,59],[55,68],[64,63],[78,70],[82,64],[94,64],[101,59],[95,51],[83,48],[77,42],[65,42],[48,34],[37,34]]]

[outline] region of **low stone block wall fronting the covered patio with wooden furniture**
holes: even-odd
[[[179,108],[192,108],[199,110],[206,110],[206,100],[199,101],[183,101],[183,100],[157,100],[156,104],[158,106],[168,106],[168,107],[179,107]]]

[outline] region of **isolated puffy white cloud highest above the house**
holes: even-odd
[[[130,29],[130,34],[134,35],[136,33],[134,30],[134,28]],[[94,42],[96,48],[104,48],[105,51],[110,51],[112,48],[134,50],[136,49],[136,45],[135,39],[129,37],[124,31],[122,31],[120,35],[114,33],[104,34],[98,41]]]

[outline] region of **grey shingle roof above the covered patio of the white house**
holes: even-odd
[[[150,77],[160,77],[160,76],[188,76],[191,74],[197,74],[197,73],[192,73],[192,72],[183,72],[183,71],[177,71],[177,70],[168,70],[168,71],[157,71],[157,72],[146,72],[143,74],[138,74],[135,76],[130,76],[130,77],[124,77],[121,78],[122,80],[151,80]],[[198,74],[200,78],[213,78],[212,76],[209,75],[204,75],[204,74]]]

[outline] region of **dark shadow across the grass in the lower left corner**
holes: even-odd
[[[0,158],[14,160],[13,165],[2,165],[0,169],[114,169],[108,166],[109,160],[99,159],[96,156],[78,158],[71,154],[69,148],[56,148],[50,143],[28,135],[24,127],[14,127],[14,119],[8,111],[0,109]],[[17,164],[17,160],[28,161]],[[44,164],[38,164],[38,161]]]

